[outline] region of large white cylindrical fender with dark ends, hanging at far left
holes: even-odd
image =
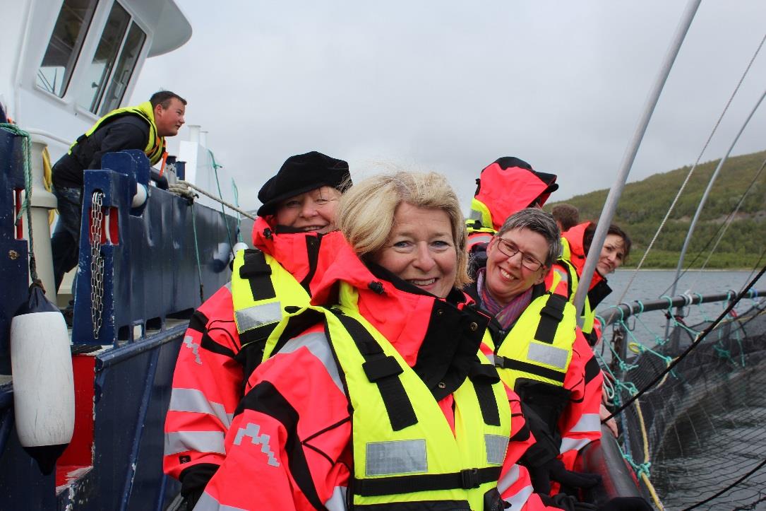
[[[61,312],[14,316],[11,371],[18,439],[23,447],[31,448],[27,450],[43,472],[44,462],[35,453],[53,456],[52,470],[74,433],[72,355]]]

